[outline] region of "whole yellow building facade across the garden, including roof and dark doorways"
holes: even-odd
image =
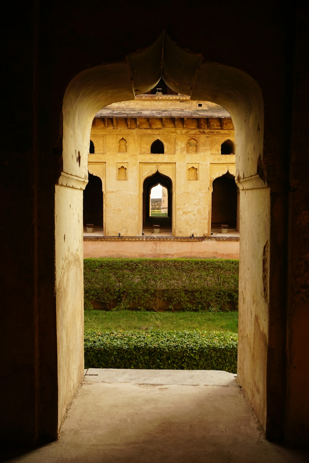
[[[99,206],[91,216],[84,203],[84,222],[102,221],[105,236],[142,236],[153,224],[177,237],[210,236],[212,223],[239,229],[234,127],[219,105],[141,95],[97,113],[90,138],[88,172],[101,179],[103,211]],[[168,191],[164,219],[150,216],[158,183]]]

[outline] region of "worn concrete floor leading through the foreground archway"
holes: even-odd
[[[235,375],[88,369],[57,442],[7,462],[296,463],[262,437]]]

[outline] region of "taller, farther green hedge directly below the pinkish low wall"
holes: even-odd
[[[84,259],[84,306],[237,310],[238,273],[238,260]]]

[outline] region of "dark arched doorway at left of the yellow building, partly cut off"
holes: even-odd
[[[83,194],[83,224],[94,224],[103,228],[102,181],[88,172],[88,184]]]

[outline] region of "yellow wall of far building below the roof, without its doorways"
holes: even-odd
[[[172,235],[210,235],[212,182],[235,174],[235,155],[221,155],[221,144],[234,142],[231,119],[96,118],[90,138],[88,171],[102,180],[106,236],[142,235],[143,183],[157,170],[172,181]],[[150,153],[156,139],[164,154]]]

